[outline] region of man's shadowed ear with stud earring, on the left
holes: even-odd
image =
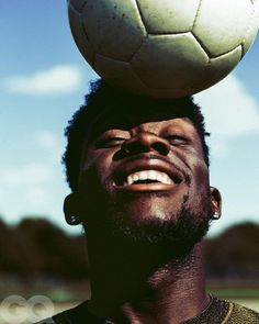
[[[69,225],[78,225],[80,224],[80,204],[77,192],[72,192],[68,194],[64,200],[63,211],[65,214],[66,222]]]

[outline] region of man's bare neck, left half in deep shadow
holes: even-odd
[[[89,239],[90,311],[115,323],[174,324],[201,313],[209,303],[202,246],[185,257],[165,248]],[[108,243],[109,242],[109,248]]]

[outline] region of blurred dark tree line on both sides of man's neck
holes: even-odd
[[[0,276],[23,279],[88,279],[86,238],[71,236],[44,219],[16,226],[0,220]],[[205,241],[209,278],[259,278],[259,224],[244,223]]]

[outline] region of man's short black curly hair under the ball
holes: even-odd
[[[205,136],[204,116],[201,109],[193,102],[192,97],[177,99],[157,99],[128,93],[125,90],[113,88],[102,79],[90,83],[90,92],[86,96],[86,103],[72,115],[65,130],[67,137],[66,150],[63,155],[63,164],[67,182],[72,191],[77,190],[82,144],[89,127],[94,123],[103,111],[113,111],[116,109],[131,109],[139,105],[143,108],[153,107],[173,107],[179,111],[179,116],[190,119],[200,136],[204,160],[210,166],[209,146]],[[173,112],[174,112],[173,110]]]

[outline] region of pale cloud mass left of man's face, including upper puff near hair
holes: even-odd
[[[34,149],[27,150],[23,164],[15,158],[0,168],[0,215],[8,223],[16,223],[23,215],[42,215],[65,225],[63,201],[68,188],[60,164],[61,135],[42,130],[31,138]]]

